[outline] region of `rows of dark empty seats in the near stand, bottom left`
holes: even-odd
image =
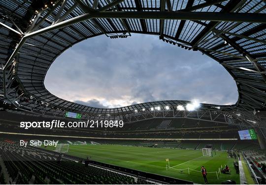
[[[18,144],[0,142],[0,169],[5,168],[7,176],[1,175],[1,184],[158,184],[157,180],[133,176],[99,165],[84,165],[68,155],[44,152],[35,148],[24,148]],[[1,170],[2,171],[2,170]],[[126,170],[127,171],[127,170]],[[128,171],[130,171],[128,169]],[[138,172],[139,174],[139,172]],[[156,176],[156,175],[154,175]],[[157,177],[158,178],[158,177]],[[162,180],[166,178],[163,177]],[[173,182],[186,182],[170,178]],[[189,183],[189,182],[187,182]]]

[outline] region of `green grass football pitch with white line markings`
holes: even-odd
[[[51,149],[51,148],[46,148]],[[86,158],[91,156],[92,160],[113,164],[121,167],[131,168],[144,172],[160,174],[168,177],[192,181],[204,184],[200,172],[178,169],[190,168],[200,171],[203,165],[207,170],[209,184],[221,184],[226,180],[234,180],[240,184],[239,175],[235,173],[233,159],[227,157],[227,153],[216,151],[213,157],[202,156],[201,150],[172,149],[172,148],[147,148],[130,147],[119,145],[69,145],[69,155]],[[170,169],[166,170],[166,158],[169,158]],[[221,165],[227,164],[231,169],[231,175],[216,172]]]

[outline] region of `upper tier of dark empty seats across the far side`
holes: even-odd
[[[145,139],[232,139],[237,138],[236,126],[232,127],[227,124],[217,124],[215,122],[200,121],[200,127],[197,121],[192,119],[150,119],[147,121],[139,121],[125,124],[121,129],[80,129],[80,128],[29,128],[20,129],[18,126],[21,119],[29,121],[51,121],[52,118],[42,116],[20,115],[14,112],[6,112],[0,118],[0,131],[24,134],[43,134],[61,135],[61,136],[83,136],[95,138],[145,138]],[[69,121],[72,119],[62,119]],[[182,124],[186,122],[186,126]],[[192,123],[191,123],[192,122]],[[160,126],[160,127],[159,127]],[[160,128],[160,129],[159,129]]]

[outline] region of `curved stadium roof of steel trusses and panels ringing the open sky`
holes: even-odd
[[[210,114],[213,120],[216,112],[217,117],[227,116],[227,122],[228,118],[231,122],[258,120],[255,112],[266,109],[265,23],[263,0],[1,0],[0,98],[17,109],[55,116],[73,111],[84,118],[134,121],[165,117],[172,111],[175,117],[180,114],[176,107],[189,102],[99,109],[58,98],[43,84],[52,62],[75,43],[100,35],[151,34],[177,47],[201,51],[233,76],[238,102],[201,104],[196,117]],[[150,110],[155,107],[163,109]],[[182,116],[188,114],[193,113],[185,110]]]

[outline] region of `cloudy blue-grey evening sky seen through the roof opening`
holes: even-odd
[[[44,84],[60,98],[99,108],[195,99],[229,105],[238,97],[233,78],[218,62],[138,34],[72,46],[52,64]]]

